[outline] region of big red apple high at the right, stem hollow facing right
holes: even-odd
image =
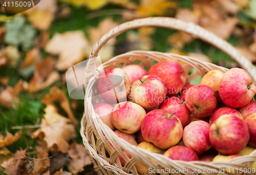
[[[224,104],[240,108],[248,104],[256,94],[252,77],[243,69],[232,68],[221,79],[219,95]]]

